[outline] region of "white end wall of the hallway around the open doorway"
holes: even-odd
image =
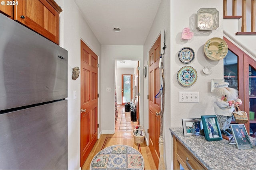
[[[102,45],[102,76],[101,76],[101,124],[102,133],[114,133],[115,130],[115,59],[122,60],[140,60],[143,59],[142,45]],[[142,77],[142,76],[141,76]],[[142,80],[140,81],[142,82]],[[142,87],[143,87],[143,83]],[[110,87],[111,92],[106,92]],[[143,96],[143,93],[141,94]],[[140,100],[143,103],[143,100]],[[140,113],[142,113],[140,109]],[[104,121],[103,121],[104,120]]]

